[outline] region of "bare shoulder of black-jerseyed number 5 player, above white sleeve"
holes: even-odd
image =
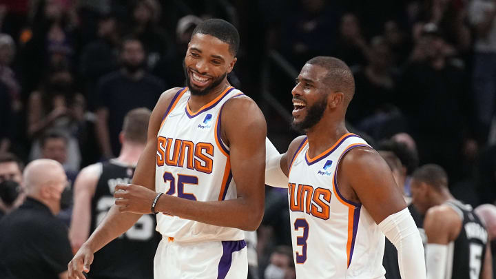
[[[424,229],[429,243],[447,244],[455,240],[461,226],[462,219],[448,205],[437,205],[426,212]]]

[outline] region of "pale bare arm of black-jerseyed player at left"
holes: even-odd
[[[69,240],[74,254],[90,235],[91,200],[99,180],[99,169],[101,167],[98,164],[81,169],[74,182],[74,207],[69,229]]]

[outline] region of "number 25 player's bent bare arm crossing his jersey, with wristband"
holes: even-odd
[[[267,125],[256,103],[244,96],[227,101],[222,114],[222,138],[229,145],[231,172],[238,198],[203,202],[162,195],[156,211],[209,225],[255,230],[264,210]],[[123,190],[114,194],[120,198],[116,205],[121,211],[150,212],[156,196],[154,191],[146,191],[137,185],[118,185],[116,189]]]

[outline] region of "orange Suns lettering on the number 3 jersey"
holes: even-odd
[[[289,209],[301,211],[311,216],[329,219],[331,191],[324,188],[313,188],[311,185],[288,183]]]

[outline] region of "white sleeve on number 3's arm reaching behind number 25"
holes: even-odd
[[[265,184],[272,187],[287,188],[288,178],[280,168],[282,155],[269,141],[269,138],[265,138]]]

